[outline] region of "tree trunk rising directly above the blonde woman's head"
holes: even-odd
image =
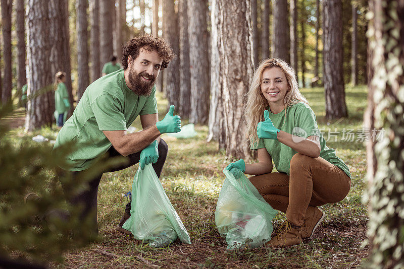
[[[287,1],[274,0],[273,2],[273,30],[272,30],[272,57],[280,58],[290,63],[290,39]]]

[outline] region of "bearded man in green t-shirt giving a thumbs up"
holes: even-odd
[[[142,169],[153,163],[160,177],[168,148],[159,136],[178,132],[181,128],[180,117],[173,115],[174,106],[163,120],[158,121],[155,81],[160,70],[167,68],[175,56],[169,45],[163,39],[144,35],[130,40],[123,47],[122,55],[123,69],[101,77],[87,87],[73,115],[59,131],[54,147],[57,150],[72,141],[75,145],[75,150],[66,156],[66,166],[57,169],[60,178],[80,182],[91,168],[97,171],[88,181],[88,188],[68,197],[70,204],[80,207],[81,219],[90,219],[95,233],[98,233],[98,184],[103,173],[140,162]],[[140,116],[143,130],[127,133],[126,129],[137,116]],[[103,162],[114,157],[121,157],[123,162],[104,168]],[[61,183],[67,193],[68,184]],[[126,205],[117,230],[130,233],[122,228],[129,217],[130,203]]]

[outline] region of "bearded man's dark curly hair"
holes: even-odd
[[[129,40],[126,46],[123,46],[122,66],[124,70],[128,68],[129,55],[135,59],[139,56],[140,48],[144,48],[148,51],[157,51],[159,56],[163,59],[161,70],[167,68],[168,63],[175,58],[173,50],[163,38],[154,38],[152,35],[145,34]]]

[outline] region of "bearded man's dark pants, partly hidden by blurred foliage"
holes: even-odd
[[[167,143],[160,139],[159,143],[159,159],[157,160],[156,163],[153,164],[153,168],[157,174],[157,176],[160,178],[161,172],[163,170],[164,163],[167,158],[167,152],[168,152],[168,146]],[[114,158],[114,157],[123,157],[120,153],[118,153],[114,147],[111,147],[107,154],[107,158]],[[103,176],[103,173],[107,172],[115,172],[119,171],[125,168],[128,168],[134,164],[137,164],[140,161],[140,152],[130,154],[126,157],[127,162],[125,164],[121,165],[116,165],[113,167],[109,167],[108,169],[102,170],[99,172],[96,176],[92,177],[88,181],[88,189],[77,194],[74,196],[68,197],[68,202],[73,205],[73,206],[80,206],[82,208],[82,212],[80,214],[80,220],[85,220],[87,217],[91,218],[92,225],[94,227],[94,230],[98,232],[98,224],[97,224],[97,193],[98,193],[98,185],[99,181],[101,180],[101,177]],[[96,165],[96,164],[95,164]],[[83,171],[78,171],[78,172],[68,172],[62,169],[57,169],[57,174],[58,176],[64,177],[66,173],[71,173],[72,180],[76,181],[80,179],[80,176],[82,175]],[[65,193],[67,192],[66,185],[62,183],[63,190]],[[126,205],[125,208],[126,213],[130,213],[130,202]]]

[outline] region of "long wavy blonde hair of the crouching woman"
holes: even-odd
[[[252,77],[251,86],[247,93],[247,105],[244,112],[245,120],[247,123],[248,140],[250,141],[251,145],[258,142],[257,125],[258,122],[264,120],[264,110],[269,105],[268,100],[261,92],[262,74],[265,70],[271,69],[273,67],[280,68],[286,77],[288,92],[283,99],[285,109],[293,104],[300,102],[309,104],[306,98],[301,95],[299,87],[297,85],[294,70],[290,67],[289,64],[278,58],[266,59],[261,61],[260,65],[254,73],[254,76]]]

